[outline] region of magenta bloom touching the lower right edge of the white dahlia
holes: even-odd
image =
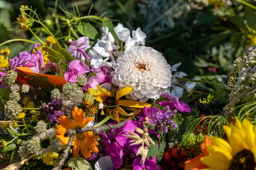
[[[189,105],[187,105],[185,102],[179,101],[177,97],[173,97],[170,94],[161,94],[161,96],[170,99],[170,101],[161,101],[158,102],[158,105],[160,106],[169,106],[170,109],[176,108],[178,111],[184,113],[184,112],[190,112],[191,108]]]

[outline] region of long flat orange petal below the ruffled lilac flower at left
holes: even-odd
[[[12,66],[13,67],[13,66]],[[35,74],[38,77],[47,77],[49,82],[55,84],[55,85],[64,85],[67,83],[67,81],[62,78],[61,76],[54,76],[54,75],[50,75],[50,74],[39,74],[39,73],[34,73],[29,67],[14,67],[17,70],[27,74],[27,75],[31,75],[31,74]]]

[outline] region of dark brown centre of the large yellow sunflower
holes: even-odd
[[[255,167],[253,153],[244,149],[233,157],[228,170],[254,170]]]

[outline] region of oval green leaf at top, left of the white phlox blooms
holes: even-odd
[[[89,37],[91,40],[97,40],[100,36],[98,31],[90,23],[80,23],[77,30],[83,36]]]

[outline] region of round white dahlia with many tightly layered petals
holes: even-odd
[[[172,83],[171,66],[162,54],[151,47],[134,46],[113,64],[112,82],[120,89],[133,87],[127,99],[146,102],[158,99]]]

